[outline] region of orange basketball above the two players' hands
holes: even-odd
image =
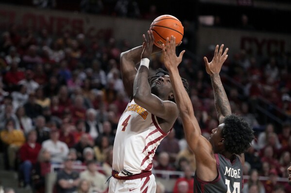
[[[171,35],[176,37],[176,45],[178,45],[184,35],[184,27],[179,19],[172,15],[161,15],[154,19],[151,24],[150,30],[153,30],[154,45],[162,48],[166,45],[167,37]]]

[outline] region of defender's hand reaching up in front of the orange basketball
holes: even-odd
[[[162,45],[164,64],[168,70],[170,68],[177,67],[181,63],[185,53],[185,50],[183,50],[177,57],[175,39],[176,38],[174,36],[171,36],[171,40],[167,38],[166,45]]]

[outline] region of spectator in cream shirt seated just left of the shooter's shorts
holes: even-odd
[[[108,187],[105,183],[106,177],[97,171],[97,163],[94,160],[87,162],[87,169],[80,173],[80,178],[90,181],[92,192],[103,193]]]

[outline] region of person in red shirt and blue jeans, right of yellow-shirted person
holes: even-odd
[[[27,135],[27,142],[19,149],[20,171],[23,175],[24,185],[30,186],[31,172],[37,162],[37,156],[41,149],[41,145],[36,143],[37,134],[35,130],[32,130]]]

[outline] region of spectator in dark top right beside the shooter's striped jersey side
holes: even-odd
[[[158,152],[167,152],[170,156],[170,163],[176,161],[176,157],[180,151],[179,140],[175,138],[175,129],[172,128],[170,134],[168,134],[161,144],[158,146]]]

